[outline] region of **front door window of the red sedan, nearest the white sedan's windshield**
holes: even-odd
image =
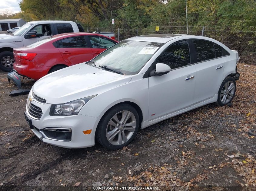
[[[105,37],[100,37],[100,36],[89,36],[89,40],[91,42],[92,48],[109,48],[116,44],[114,40],[110,40]]]

